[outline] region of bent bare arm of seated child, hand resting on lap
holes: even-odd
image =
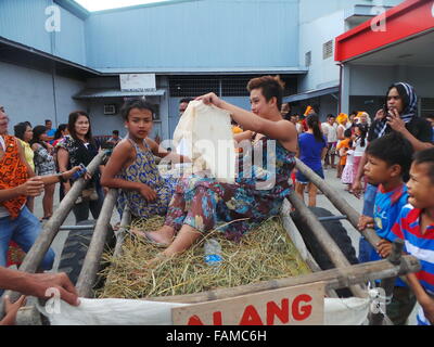
[[[156,198],[156,192],[148,184],[127,181],[117,177],[123,167],[133,159],[132,151],[133,147],[128,141],[123,141],[116,145],[102,172],[101,184],[108,188],[138,191],[144,198],[152,202]]]

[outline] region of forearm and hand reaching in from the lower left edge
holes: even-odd
[[[65,273],[28,273],[0,267],[0,288],[20,292],[24,295],[47,299],[47,290],[56,288],[61,299],[78,306],[78,295]]]

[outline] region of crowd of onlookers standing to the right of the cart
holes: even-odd
[[[397,237],[421,261],[422,270],[408,274],[407,283],[396,281],[387,316],[394,324],[405,324],[419,301],[418,323],[425,325],[434,322],[434,200],[429,197],[434,192],[434,116],[418,117],[417,100],[412,86],[397,82],[373,119],[366,112],[329,114],[319,126],[314,107],[306,110],[304,120],[288,115],[290,107],[281,112],[301,125],[297,153],[304,164],[321,178],[323,169],[335,168],[346,191],[357,197],[363,193],[358,228],[374,228],[381,242],[373,247],[361,236],[359,261],[386,258]],[[308,204],[315,206],[314,184],[299,172],[294,181],[302,197],[308,187]]]

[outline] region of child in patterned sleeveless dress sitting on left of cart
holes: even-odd
[[[154,155],[182,163],[187,157],[167,152],[151,140],[153,106],[143,99],[125,103],[120,111],[128,136],[113,150],[101,177],[101,184],[120,188],[117,208],[119,214],[128,204],[131,215],[149,218],[164,216],[174,194],[175,180],[159,175]]]

